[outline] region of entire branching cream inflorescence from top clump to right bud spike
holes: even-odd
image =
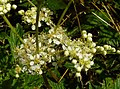
[[[32,7],[26,12],[24,10],[18,12],[23,15],[23,22],[31,24],[33,30],[35,29],[36,23],[36,10],[36,7]],[[63,27],[56,27],[53,24],[50,17],[51,13],[48,8],[41,8],[38,25],[41,27],[41,21],[43,21],[50,26],[50,29],[48,32],[42,32],[38,36],[39,52],[36,53],[34,35],[28,35],[28,37],[24,38],[24,44],[16,48],[15,57],[19,61],[19,66],[17,65],[16,68],[17,76],[20,72],[18,69],[33,75],[41,75],[44,73],[47,64],[56,62],[57,65],[59,58],[67,57],[65,61],[71,61],[74,64],[76,76],[80,77],[82,69],[88,71],[94,65],[94,55],[120,53],[120,50],[116,50],[110,45],[96,46],[96,43],[92,40],[92,34],[87,33],[85,30],[81,32],[80,38],[71,40]]]

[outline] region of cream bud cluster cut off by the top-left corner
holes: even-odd
[[[0,15],[4,15],[11,10],[11,8],[16,9],[17,5],[10,3],[11,0],[0,0]]]

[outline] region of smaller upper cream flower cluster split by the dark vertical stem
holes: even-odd
[[[36,15],[37,15],[37,8],[31,7],[30,10],[26,12],[24,10],[18,11],[20,15],[22,15],[23,22],[32,24],[32,30],[35,30],[35,23],[36,23]],[[48,26],[52,25],[51,17],[53,13],[48,8],[41,8],[38,27],[41,27],[41,21],[44,21]]]

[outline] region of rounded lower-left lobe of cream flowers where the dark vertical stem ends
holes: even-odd
[[[16,48],[16,58],[19,59],[22,65],[22,72],[42,74],[43,66],[47,62],[50,63],[51,60],[54,60],[52,56],[55,52],[54,48],[47,48],[47,46],[39,42],[39,53],[36,54],[35,37],[28,36],[28,38],[24,39],[24,43]]]

